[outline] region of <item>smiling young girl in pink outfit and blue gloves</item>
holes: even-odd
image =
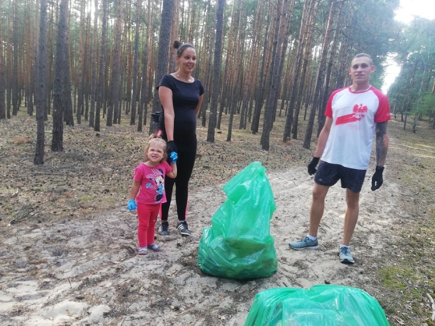
[[[177,153],[172,152],[170,158],[171,165],[166,162],[166,142],[159,135],[151,135],[145,148],[146,161],[134,170],[127,209],[137,209],[138,255],[147,255],[148,249],[161,251],[154,243],[154,228],[160,206],[166,202],[164,177],[177,177]]]

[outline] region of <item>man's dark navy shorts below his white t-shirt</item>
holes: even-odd
[[[320,161],[314,181],[319,185],[330,187],[341,180],[342,188],[347,188],[353,192],[360,192],[361,188],[363,188],[366,171]]]

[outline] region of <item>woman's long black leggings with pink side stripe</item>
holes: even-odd
[[[183,139],[183,143],[175,141],[178,151],[177,160],[177,178],[165,177],[164,189],[166,192],[166,203],[162,204],[161,220],[167,221],[169,207],[171,206],[172,191],[175,184],[175,203],[177,204],[178,220],[186,219],[187,214],[187,197],[188,197],[188,183],[190,175],[194,169],[195,159],[197,156],[197,138],[191,137],[190,139]]]

